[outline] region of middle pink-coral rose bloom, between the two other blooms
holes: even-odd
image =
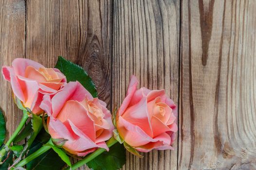
[[[78,156],[97,148],[109,150],[105,141],[112,136],[114,126],[106,106],[79,82],[68,83],[52,99],[45,95],[40,105],[48,114],[49,134],[67,140],[62,148]]]

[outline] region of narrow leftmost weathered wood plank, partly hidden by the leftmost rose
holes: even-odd
[[[0,0],[0,68],[25,57],[25,2]],[[22,112],[14,103],[11,85],[0,76],[0,109],[6,119],[7,137],[16,130]],[[7,139],[7,138],[6,138]]]

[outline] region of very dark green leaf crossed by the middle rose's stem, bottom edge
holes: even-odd
[[[41,143],[37,139],[33,142],[28,155],[36,152],[42,147],[44,143]],[[58,156],[54,150],[50,149],[46,153],[41,154],[37,158],[27,163],[27,170],[61,170],[66,165],[65,162]]]

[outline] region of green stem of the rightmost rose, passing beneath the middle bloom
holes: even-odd
[[[113,146],[115,143],[117,142],[117,140],[115,140],[115,138],[112,136],[110,138],[110,140],[107,141],[107,145],[110,148],[111,146]],[[94,151],[93,153],[85,156],[82,160],[76,162],[75,164],[72,165],[72,170],[75,170],[81,166],[83,166],[84,164],[90,162],[92,159],[94,159],[95,157],[97,157],[98,155],[100,155],[101,153],[104,153],[106,150],[103,148],[99,148],[96,151]],[[66,168],[65,170],[71,170],[71,168]]]

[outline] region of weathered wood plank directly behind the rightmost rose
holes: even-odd
[[[129,78],[163,89],[178,102],[180,2],[114,0],[112,105],[120,106]],[[174,144],[177,148],[177,141]],[[153,151],[138,158],[127,153],[124,170],[177,169],[177,151]]]

